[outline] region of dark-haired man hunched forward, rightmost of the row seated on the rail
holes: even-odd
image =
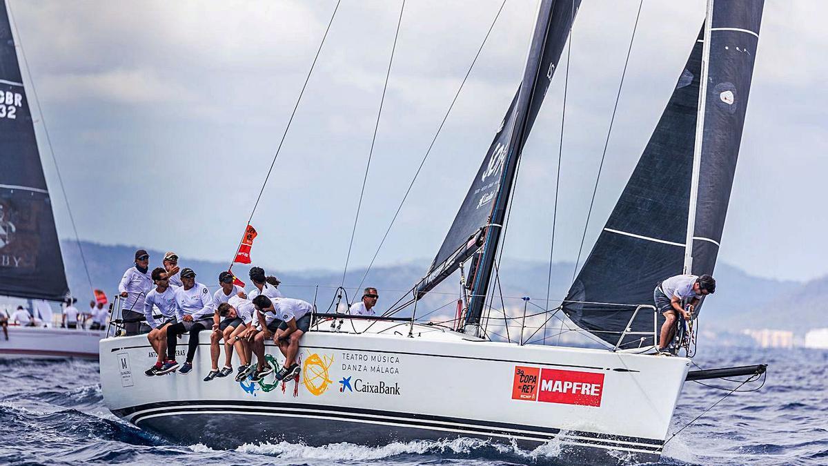
[[[253,305],[262,313],[274,313],[276,319],[282,321],[279,324],[277,335],[273,342],[279,347],[279,351],[285,357],[284,366],[276,373],[276,380],[293,375],[299,370],[296,364],[296,355],[299,353],[299,340],[310,329],[310,316],[313,313],[313,305],[301,299],[280,298],[268,299],[257,297]],[[275,321],[274,321],[275,322]],[[257,335],[257,337],[259,337]],[[262,352],[264,351],[264,340],[262,339]]]

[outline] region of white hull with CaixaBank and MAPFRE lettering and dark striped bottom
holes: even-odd
[[[417,325],[414,337],[407,326],[394,334],[308,333],[300,380],[282,386],[267,383],[270,376],[260,386],[232,377],[202,381],[210,366],[206,337],[190,374],[152,377],[143,374],[156,359],[146,337],[102,340],[105,404],[166,439],[220,449],[479,437],[526,446],[555,440],[590,454],[652,459],[661,454],[689,366],[680,357],[471,341]]]

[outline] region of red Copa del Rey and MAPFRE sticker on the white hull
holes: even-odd
[[[513,400],[600,406],[604,374],[515,366]]]

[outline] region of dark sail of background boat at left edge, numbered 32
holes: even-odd
[[[69,293],[6,2],[0,8],[0,295]]]

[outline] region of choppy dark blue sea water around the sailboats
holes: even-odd
[[[828,464],[828,352],[706,347],[694,358],[714,368],[768,363],[767,381],[687,383],[661,464]],[[0,360],[0,464],[571,464],[566,445],[537,449],[479,439],[382,447],[281,442],[219,451],[176,445],[118,420],[103,406],[97,362]],[[179,376],[174,374],[172,376]],[[727,390],[722,390],[726,388]],[[382,429],[382,427],[378,427]],[[669,435],[668,435],[669,437]],[[629,464],[623,454],[617,464]]]

